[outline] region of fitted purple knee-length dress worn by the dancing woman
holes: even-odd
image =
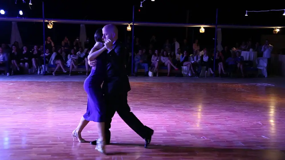
[[[104,51],[97,58],[96,68],[92,67],[90,75],[84,81],[84,90],[87,93],[87,111],[83,115],[85,120],[105,122],[106,107],[101,84],[106,76],[106,56]]]

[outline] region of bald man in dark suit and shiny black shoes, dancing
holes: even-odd
[[[125,68],[125,47],[118,41],[118,29],[113,24],[103,27],[104,45],[107,53],[107,77],[104,79],[102,90],[106,101],[107,113],[105,122],[106,144],[110,144],[111,121],[117,111],[118,115],[141,138],[145,140],[146,148],[151,141],[154,130],[144,126],[143,123],[131,112],[128,105],[128,92],[131,90],[129,78]],[[96,66],[96,61],[88,62],[90,66]],[[96,141],[91,142],[96,145]]]

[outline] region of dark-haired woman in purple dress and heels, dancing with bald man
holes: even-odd
[[[103,44],[102,29],[98,29],[95,33],[95,45],[90,50],[88,60],[97,60],[96,67],[92,67],[90,75],[84,82],[84,90],[87,93],[87,111],[82,116],[77,128],[72,132],[73,138],[77,138],[79,142],[87,142],[81,137],[83,128],[89,121],[97,122],[98,135],[96,149],[105,153],[105,102],[103,99],[103,92],[101,84],[106,74],[106,56],[107,51]]]

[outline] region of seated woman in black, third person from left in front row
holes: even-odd
[[[23,47],[23,53],[21,54],[20,57],[20,66],[24,68],[24,73],[25,74],[30,74],[30,68],[32,67],[32,60],[31,60],[31,52],[28,51],[27,46]]]

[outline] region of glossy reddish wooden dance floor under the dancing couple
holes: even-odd
[[[108,155],[71,132],[86,111],[83,82],[0,82],[1,160],[282,160],[285,91],[222,83],[131,83],[129,105],[154,129],[144,140],[115,114]],[[95,140],[90,122],[82,132]]]

